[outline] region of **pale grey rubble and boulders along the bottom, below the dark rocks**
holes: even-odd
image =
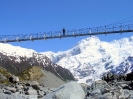
[[[95,81],[92,85],[68,82],[58,88],[39,85],[37,81],[0,85],[0,99],[133,99],[130,81]]]

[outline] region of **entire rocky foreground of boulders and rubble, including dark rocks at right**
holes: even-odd
[[[60,83],[47,72],[44,75],[41,83],[36,80],[19,82],[18,77],[12,76],[10,83],[0,84],[0,99],[133,99],[133,73],[118,75],[109,72],[91,85],[75,81]],[[56,83],[46,76],[52,77]]]

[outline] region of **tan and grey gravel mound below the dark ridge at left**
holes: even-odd
[[[46,71],[40,66],[33,66],[17,75],[21,82],[37,81],[45,87],[57,88],[62,84],[67,83],[53,73]]]

